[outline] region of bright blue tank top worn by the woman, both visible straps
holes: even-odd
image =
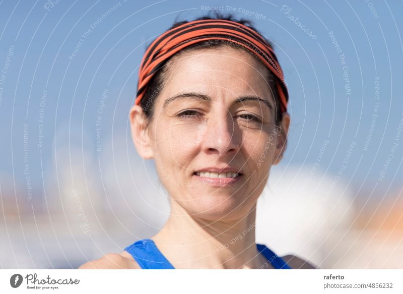
[[[256,244],[256,247],[274,268],[291,269],[284,259],[277,256],[265,245]],[[142,269],[175,269],[151,239],[139,240],[127,246],[124,251],[127,251]]]

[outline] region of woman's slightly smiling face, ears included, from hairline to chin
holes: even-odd
[[[131,110],[139,153],[154,158],[171,199],[190,215],[244,217],[277,163],[289,125],[285,115],[275,126],[279,105],[264,66],[225,46],[174,57],[165,77],[145,137],[138,135],[141,107]]]

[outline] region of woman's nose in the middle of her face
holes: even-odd
[[[238,152],[240,148],[239,134],[227,108],[223,107],[220,111],[211,113],[202,146],[206,153],[216,153],[219,156],[234,155]]]

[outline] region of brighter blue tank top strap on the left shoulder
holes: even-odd
[[[142,269],[175,269],[151,239],[139,240],[124,251],[130,253]]]

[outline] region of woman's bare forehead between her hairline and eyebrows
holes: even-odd
[[[266,92],[267,72],[243,50],[218,48],[185,52],[173,59],[165,75],[164,88],[178,91]],[[241,94],[241,93],[236,93]]]

